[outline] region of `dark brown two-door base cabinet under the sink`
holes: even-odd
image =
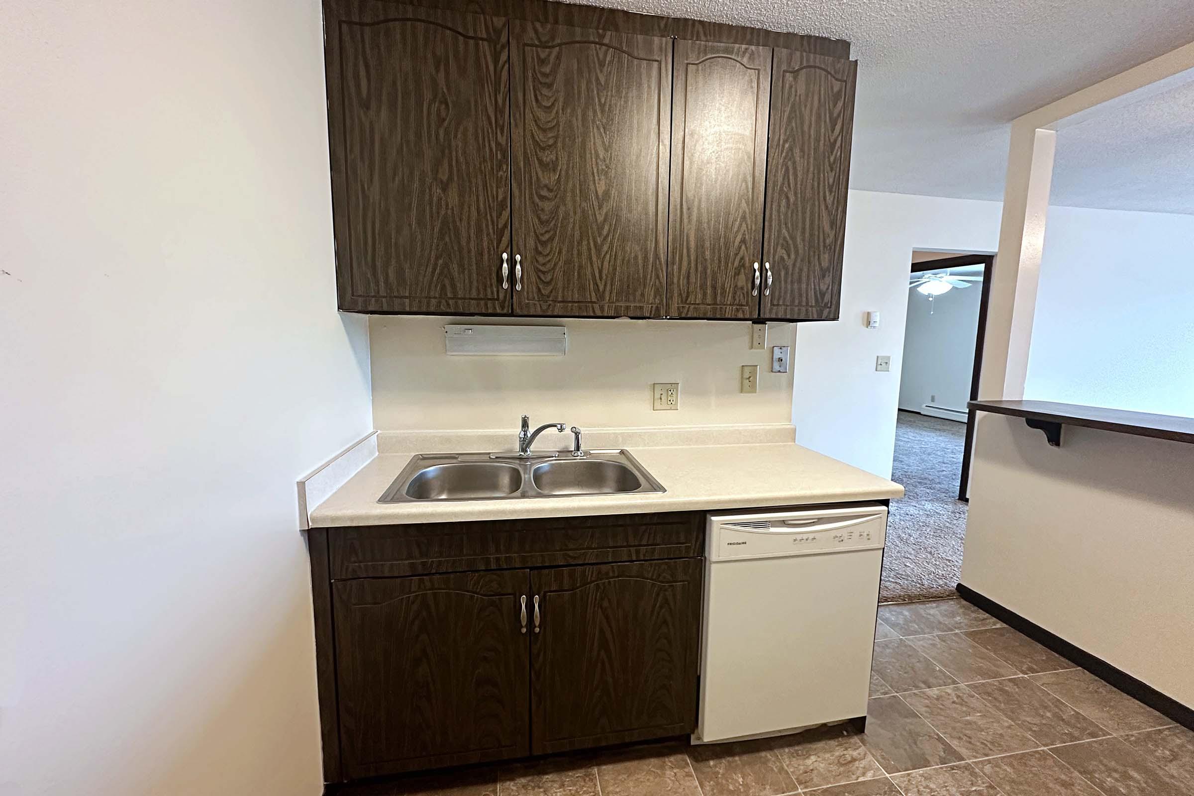
[[[327,782],[696,728],[701,512],[310,539]]]

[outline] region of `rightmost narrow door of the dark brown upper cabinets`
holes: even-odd
[[[857,64],[775,50],[762,316],[836,320]]]

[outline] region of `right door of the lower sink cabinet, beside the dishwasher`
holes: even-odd
[[[531,574],[531,753],[696,727],[701,560]]]

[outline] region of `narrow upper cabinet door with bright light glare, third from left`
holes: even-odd
[[[770,88],[770,48],[676,42],[669,315],[758,315]]]

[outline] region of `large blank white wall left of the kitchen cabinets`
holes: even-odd
[[[295,479],[369,427],[319,4],[0,25],[0,792],[320,792]]]

